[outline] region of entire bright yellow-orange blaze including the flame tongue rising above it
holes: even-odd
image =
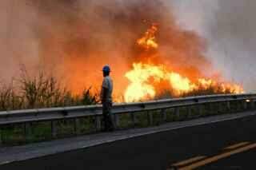
[[[148,52],[150,49],[158,49],[159,45],[155,35],[157,31],[158,26],[154,24],[137,41],[137,45],[145,50],[146,55],[143,55],[144,58],[150,58],[152,55]],[[158,52],[156,51],[155,53]],[[240,85],[219,82],[218,80],[205,77],[190,80],[189,77],[171,70],[168,65],[154,63],[152,60],[134,62],[133,69],[128,71],[125,76],[130,81],[130,85],[128,85],[124,94],[126,102],[153,99],[162,90],[167,90],[167,93],[175,96],[209,88],[222,93],[243,93],[242,86]]]

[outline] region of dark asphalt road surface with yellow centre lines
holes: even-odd
[[[4,164],[12,169],[255,169],[256,116]]]

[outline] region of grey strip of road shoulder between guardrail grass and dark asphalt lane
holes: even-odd
[[[230,121],[243,117],[254,116],[255,114],[256,112],[252,111],[246,113],[219,115],[214,117],[202,117],[190,121],[170,122],[150,128],[132,128],[116,132],[104,132],[62,140],[52,140],[37,144],[0,148],[0,164],[9,164],[14,161],[29,160],[41,156],[54,155],[60,152],[89,148],[98,144],[106,144],[117,140],[126,140],[157,132],[166,132],[178,128],[187,128],[198,125],[214,124],[221,121]]]

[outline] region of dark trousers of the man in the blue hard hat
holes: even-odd
[[[112,131],[114,130],[114,122],[111,115],[112,102],[106,101],[102,103],[102,113],[103,113],[103,124],[104,130]]]

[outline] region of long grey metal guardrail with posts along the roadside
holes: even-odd
[[[209,95],[199,97],[184,97],[168,100],[146,101],[128,104],[116,104],[113,106],[115,124],[118,125],[118,114],[122,113],[138,113],[144,111],[161,110],[163,121],[166,120],[166,109],[176,108],[175,113],[178,114],[178,108],[192,105],[203,105],[207,103],[223,103],[230,109],[230,101],[243,101],[244,108],[250,103],[250,107],[255,107],[256,94],[229,94],[229,95]],[[200,109],[198,108],[198,112]],[[96,117],[96,128],[101,128],[100,116],[102,115],[102,105],[75,106],[51,109],[26,109],[0,112],[0,126],[25,124],[37,121],[51,121],[52,135],[55,135],[54,121],[66,119],[79,119],[82,117]],[[132,121],[135,122],[134,114],[131,114]],[[152,121],[152,117],[149,118]],[[78,126],[78,125],[75,125]],[[0,140],[1,143],[1,140]]]

